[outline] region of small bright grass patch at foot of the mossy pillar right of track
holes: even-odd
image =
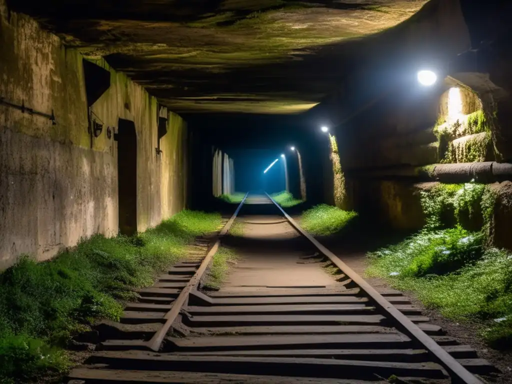
[[[300,223],[311,234],[328,235],[343,229],[356,216],[354,211],[321,204],[304,211]]]

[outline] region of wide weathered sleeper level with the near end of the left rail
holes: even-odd
[[[337,335],[250,335],[203,336],[166,339],[167,351],[221,351],[257,349],[395,349],[412,348],[411,339],[401,333],[348,333]],[[171,346],[172,343],[174,346]]]

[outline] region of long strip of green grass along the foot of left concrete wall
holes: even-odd
[[[70,338],[99,318],[119,319],[116,299],[185,256],[186,245],[217,230],[221,217],[182,211],[135,237],[82,240],[54,260],[29,257],[0,274],[0,382],[28,382],[69,367],[62,350]]]

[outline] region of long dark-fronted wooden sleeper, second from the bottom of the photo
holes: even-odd
[[[176,356],[143,351],[98,352],[90,364],[106,364],[109,369],[211,372],[246,375],[283,375],[375,380],[391,375],[445,378],[444,371],[430,362],[392,362],[287,357]],[[279,382],[279,381],[278,381]]]

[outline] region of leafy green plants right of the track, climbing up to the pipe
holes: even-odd
[[[417,293],[456,321],[477,321],[495,348],[512,345],[512,255],[487,247],[496,195],[482,184],[423,191],[422,231],[369,254],[370,276]],[[477,229],[475,229],[477,228]]]

